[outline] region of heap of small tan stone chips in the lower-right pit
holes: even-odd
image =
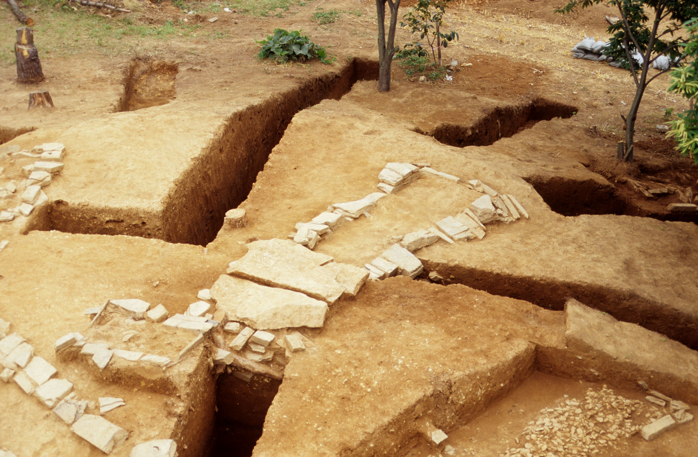
[[[683,405],[685,403],[681,402]],[[684,421],[690,420],[687,414],[685,409],[681,410]],[[653,439],[658,433],[647,434],[663,426],[663,422],[668,420],[666,417],[671,418],[662,417],[655,405],[617,395],[605,385],[602,389],[589,388],[584,401],[571,398],[556,408],[541,410],[540,416],[530,421],[516,438],[520,447],[509,448],[502,456],[591,457],[604,449],[616,447],[618,440],[640,431],[646,440]],[[651,422],[644,426],[640,424],[646,419],[651,419]]]

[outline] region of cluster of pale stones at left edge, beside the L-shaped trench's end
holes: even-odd
[[[66,147],[61,143],[44,143],[34,146],[31,152],[19,150],[19,146],[16,146],[16,149],[10,153],[13,157],[35,157],[38,161],[22,167],[27,180],[19,187],[11,181],[0,187],[0,198],[11,197],[17,190],[22,192],[20,206],[1,211],[0,222],[13,221],[17,215],[29,216],[34,208],[48,201],[43,188],[51,183],[52,176],[59,173],[64,166],[61,161]]]

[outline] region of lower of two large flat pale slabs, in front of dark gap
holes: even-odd
[[[241,320],[258,330],[322,327],[327,313],[327,303],[321,300],[228,274],[221,274],[211,287],[211,297],[217,309],[228,311],[230,320]]]

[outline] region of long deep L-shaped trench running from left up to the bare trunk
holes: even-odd
[[[129,70],[133,75],[126,78],[134,82],[133,88],[138,88],[136,80],[142,81],[143,75],[152,73],[148,68],[155,64],[146,65],[146,70],[139,65],[133,63]],[[167,65],[157,68],[162,70]],[[135,214],[133,210],[57,201],[49,212],[49,221],[36,225],[68,233],[131,235],[207,245],[223,226],[225,212],[247,198],[293,116],[327,98],[339,100],[360,79],[378,79],[378,63],[352,59],[337,72],[306,80],[297,88],[237,111],[173,183],[162,210]],[[125,91],[128,93],[128,88]],[[134,103],[133,95],[124,95],[122,109],[133,109]]]

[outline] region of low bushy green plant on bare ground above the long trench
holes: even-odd
[[[257,56],[260,59],[272,59],[272,61],[285,63],[288,61],[305,61],[315,57],[322,63],[332,63],[334,58],[329,58],[325,49],[315,45],[307,36],[301,35],[301,31],[287,31],[274,29],[274,35],[267,35],[267,40],[257,41],[262,49]]]

